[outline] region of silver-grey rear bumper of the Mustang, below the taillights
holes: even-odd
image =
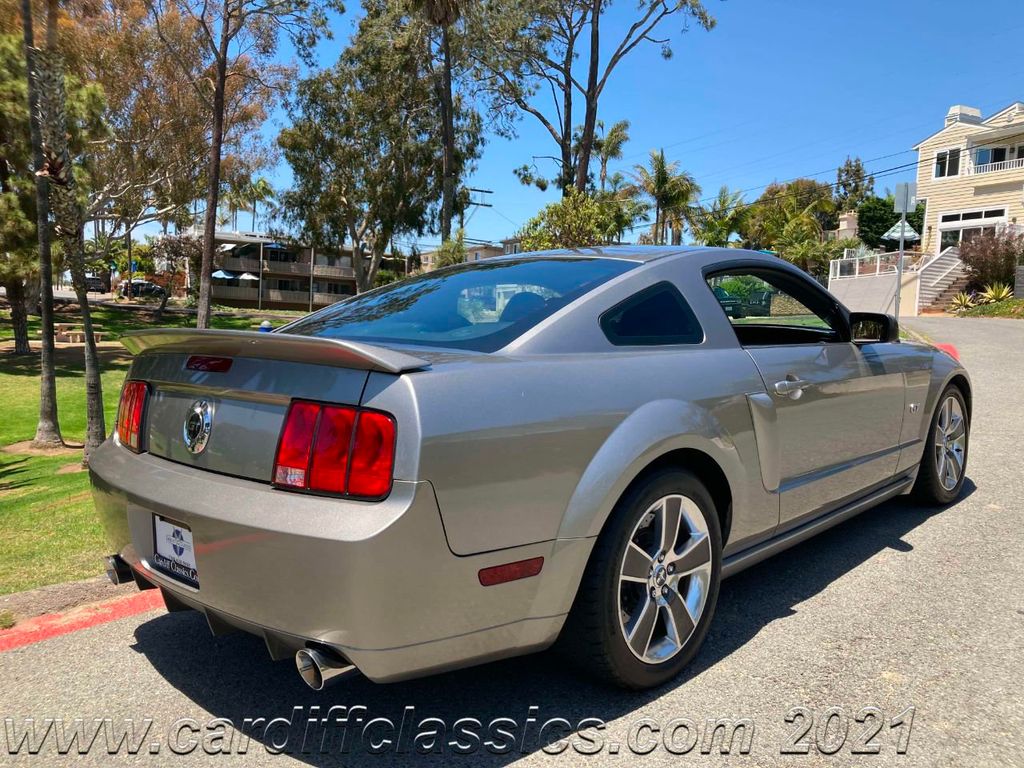
[[[469,557],[447,547],[429,482],[396,481],[383,502],[275,490],[106,441],[90,459],[97,510],[118,552],[215,633],[262,636],[275,658],[330,646],[385,682],[550,645],[591,539]],[[191,529],[199,589],[153,565],[153,516]],[[480,568],[543,556],[540,575],[481,587]]]

